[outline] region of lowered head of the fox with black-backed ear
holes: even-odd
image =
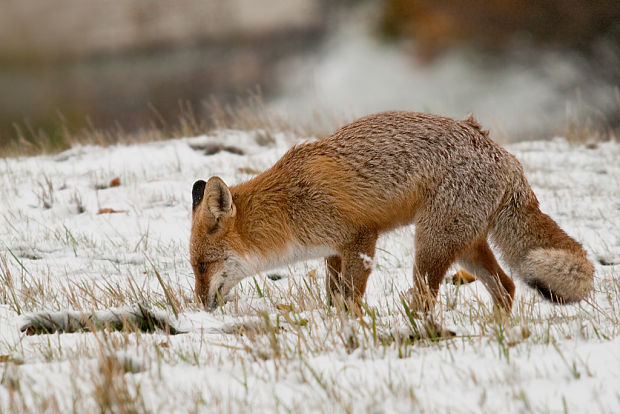
[[[222,179],[194,183],[189,256],[196,295],[207,310],[213,310],[241,279],[255,273],[241,253],[236,215],[232,194]]]

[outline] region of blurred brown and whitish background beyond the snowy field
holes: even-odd
[[[617,0],[0,6],[3,147],[198,133],[246,103],[317,133],[407,109],[472,112],[504,141],[608,136],[620,128],[619,85]],[[188,122],[196,128],[179,127]]]

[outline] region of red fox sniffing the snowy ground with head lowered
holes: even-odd
[[[519,161],[471,116],[369,115],[294,146],[250,181],[197,181],[192,200],[190,260],[208,310],[247,276],[320,257],[328,298],[360,301],[377,237],[410,223],[413,291],[425,306],[458,262],[510,311],[515,285],[488,238],[551,301],[576,302],[593,288],[581,244],[540,211]]]

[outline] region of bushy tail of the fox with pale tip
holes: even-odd
[[[540,211],[523,176],[506,193],[491,236],[513,271],[545,298],[571,303],[592,291],[594,266],[585,250]]]

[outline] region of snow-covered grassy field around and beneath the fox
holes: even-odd
[[[517,283],[506,317],[479,283],[446,278],[435,318],[455,335],[426,332],[399,296],[406,227],[379,240],[363,318],[325,307],[321,261],[246,279],[202,311],[192,183],[249,179],[295,141],[228,131],[0,161],[0,412],[620,411],[620,144],[509,146],[596,266],[587,303]],[[204,154],[218,143],[234,148]],[[184,333],[20,332],[31,312],[138,304]]]

